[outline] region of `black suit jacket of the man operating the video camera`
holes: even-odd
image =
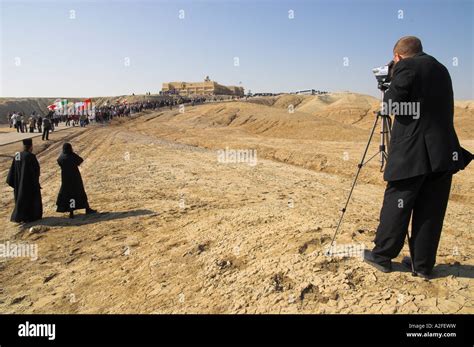
[[[432,56],[422,52],[395,64],[384,102],[392,107],[394,103],[419,103],[418,114],[395,116],[386,181],[456,172],[472,160],[472,154],[461,148],[454,130],[451,77]]]

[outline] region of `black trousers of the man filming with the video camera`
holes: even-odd
[[[374,240],[375,261],[384,263],[398,256],[411,218],[415,271],[433,270],[452,177],[452,172],[437,172],[387,183]]]

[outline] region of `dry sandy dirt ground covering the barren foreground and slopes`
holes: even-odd
[[[358,256],[327,256],[373,105],[362,100],[351,112],[350,103],[330,103],[324,117],[324,105],[300,110],[295,103],[288,112],[291,102],[147,112],[63,131],[37,146],[44,219],[11,223],[12,189],[0,188],[2,242],[38,247],[37,260],[0,262],[0,312],[474,313],[472,168],[455,176],[433,280],[401,267],[406,246],[389,274]],[[468,107],[460,138],[474,151]],[[56,159],[66,140],[85,159],[81,172],[97,215],[81,211],[70,220],[55,212]],[[4,178],[5,155],[17,147],[0,147]],[[247,152],[255,161],[222,156],[233,150],[256,150]],[[374,159],[338,249],[372,247],[383,190]]]

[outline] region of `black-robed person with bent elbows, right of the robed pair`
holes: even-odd
[[[96,213],[89,206],[87,194],[82,183],[79,165],[84,160],[73,152],[70,143],[63,145],[63,152],[58,158],[61,167],[61,189],[59,190],[56,205],[57,212],[69,212],[69,218],[74,218],[74,210],[85,208],[86,214]]]

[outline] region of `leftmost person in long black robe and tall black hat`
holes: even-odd
[[[24,139],[23,151],[15,154],[8,172],[7,184],[13,188],[15,197],[12,222],[28,223],[43,217],[40,166],[32,151],[33,141]]]

